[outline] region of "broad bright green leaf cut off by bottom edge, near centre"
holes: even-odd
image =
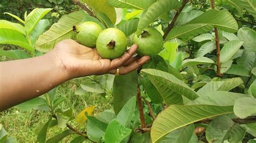
[[[105,142],[121,142],[123,139],[129,137],[131,132],[132,130],[130,128],[126,128],[125,126],[120,124],[116,119],[113,119],[106,128]]]

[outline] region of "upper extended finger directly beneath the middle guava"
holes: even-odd
[[[122,56],[120,56],[119,58],[117,59],[113,59],[111,61],[111,64],[110,64],[110,69],[114,69],[114,68],[117,68],[119,66],[121,66],[124,62],[126,62],[127,60],[129,60],[132,55],[136,52],[138,48],[138,45],[132,45],[131,48],[126,52],[124,53]]]

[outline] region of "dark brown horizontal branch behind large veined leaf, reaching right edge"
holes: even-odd
[[[234,123],[238,123],[238,124],[256,123],[256,116],[250,116],[244,119],[233,118],[232,120],[234,121]],[[197,121],[196,123],[209,124],[211,121],[212,119],[204,119],[204,120]]]

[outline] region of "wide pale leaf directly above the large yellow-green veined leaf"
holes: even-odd
[[[233,106],[235,101],[241,97],[250,97],[246,94],[239,94],[228,91],[213,91],[206,92],[197,99],[187,103],[188,105],[194,104],[207,104],[207,105],[218,105],[218,106]]]

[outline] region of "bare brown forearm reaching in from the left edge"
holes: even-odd
[[[0,62],[0,111],[43,95],[69,79],[51,53],[32,59]]]

